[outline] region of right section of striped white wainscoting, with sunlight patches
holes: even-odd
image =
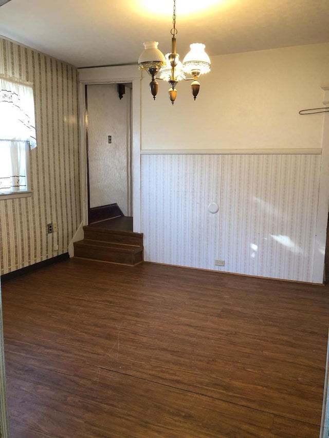
[[[320,159],[224,157],[220,246],[225,270],[312,281]]]

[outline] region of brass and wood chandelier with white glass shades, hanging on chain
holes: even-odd
[[[172,104],[174,104],[177,96],[176,85],[178,81],[193,81],[191,91],[195,100],[200,88],[198,77],[200,74],[210,71],[210,59],[205,52],[206,46],[204,44],[193,43],[190,45],[191,50],[185,56],[183,62],[179,61],[179,54],[176,52],[176,0],[174,0],[173,28],[170,33],[172,35],[171,53],[167,53],[166,56],[163,55],[158,49],[159,43],[156,41],[143,43],[144,50],[138,58],[138,68],[146,70],[152,77],[150,91],[154,100],[159,87],[156,79],[169,82],[169,98]],[[158,73],[159,78],[156,78]],[[186,74],[189,74],[191,77],[186,78]]]

